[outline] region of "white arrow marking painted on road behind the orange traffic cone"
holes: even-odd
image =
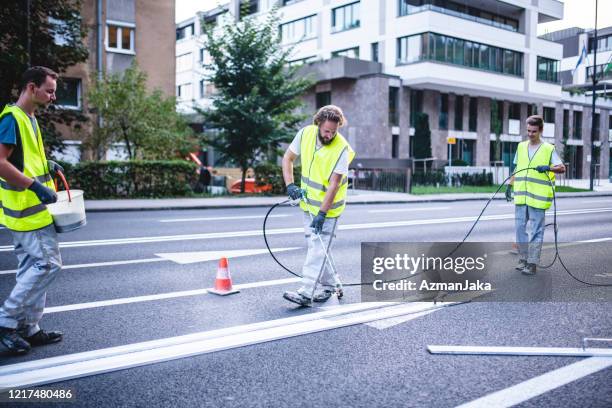
[[[272,248],[272,252],[285,252],[285,251],[293,251],[295,249],[300,249],[299,247],[293,248]],[[173,252],[173,253],[161,253],[155,254],[158,258],[145,258],[145,259],[131,259],[126,261],[110,261],[110,262],[94,262],[88,264],[74,264],[74,265],[64,265],[62,266],[62,270],[68,269],[80,269],[80,268],[96,268],[100,266],[118,266],[118,265],[131,265],[131,264],[140,264],[140,263],[150,263],[150,262],[175,262],[181,265],[196,263],[196,262],[206,262],[212,260],[219,260],[221,257],[226,258],[238,258],[241,256],[252,256],[252,255],[261,255],[267,254],[268,249],[240,249],[240,250],[228,250],[228,251],[200,251],[200,252]],[[17,273],[16,269],[8,269],[4,271],[0,271],[0,275],[10,275]]]

